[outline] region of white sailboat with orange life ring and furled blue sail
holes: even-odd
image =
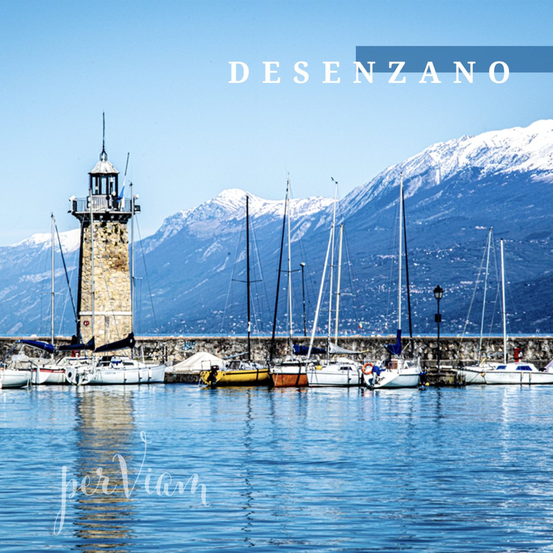
[[[398,330],[394,344],[386,346],[388,358],[380,363],[366,363],[363,366],[363,381],[369,388],[415,388],[421,372],[418,359],[407,359],[401,355],[401,247],[403,244],[403,173],[399,178],[399,254],[398,254]]]

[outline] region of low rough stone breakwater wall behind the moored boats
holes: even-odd
[[[4,357],[13,347],[16,340],[22,337],[0,338],[0,354]],[[25,339],[49,341],[48,337],[26,337]],[[414,352],[420,357],[423,366],[436,366],[437,342],[435,336],[416,336]],[[69,343],[69,338],[56,338],[56,343]],[[395,342],[395,336],[348,336],[339,338],[341,347],[363,352],[363,358],[378,360],[385,356],[384,346]],[[268,358],[270,337],[252,338],[252,359],[263,362]],[[309,338],[294,338],[294,343],[309,345]],[[455,366],[459,361],[474,361],[478,358],[477,337],[463,338],[440,337],[440,358],[444,366]],[[315,338],[315,347],[326,347],[326,338]],[[403,341],[404,349],[409,348],[409,340]],[[523,351],[525,361],[543,367],[553,359],[552,336],[513,336],[509,338],[509,358],[513,358],[513,348],[519,347]],[[287,338],[276,338],[275,357],[284,357],[287,353]],[[245,337],[137,337],[135,355],[143,355],[145,359],[165,361],[168,365],[184,361],[194,353],[206,351],[218,357],[230,357],[247,351]],[[490,359],[499,361],[502,358],[503,338],[484,338],[482,351]]]

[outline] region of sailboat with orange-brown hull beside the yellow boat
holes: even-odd
[[[286,225],[286,223],[288,223]],[[280,259],[278,276],[276,278],[276,295],[275,295],[275,312],[273,320],[273,336],[271,340],[269,363],[273,362],[273,354],[275,347],[275,331],[276,331],[276,312],[278,309],[278,295],[280,289],[280,273],[282,263],[282,252],[284,246],[284,233],[288,228],[288,356],[273,364],[269,369],[269,374],[272,379],[274,388],[289,388],[307,386],[307,363],[305,358],[300,355],[295,355],[294,349],[294,327],[292,320],[292,268],[291,268],[291,240],[290,240],[290,179],[286,181],[286,199],[284,201],[284,218],[282,227],[282,237],[280,241]],[[298,348],[296,348],[298,349]]]

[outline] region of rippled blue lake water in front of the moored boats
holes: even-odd
[[[539,386],[0,390],[0,551],[553,551],[551,405]]]

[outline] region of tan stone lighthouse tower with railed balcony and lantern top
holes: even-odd
[[[94,337],[100,346],[132,331],[127,222],[133,206],[119,190],[119,171],[108,161],[105,138],[100,161],[88,174],[88,195],[70,200],[70,212],[81,223],[77,336],[85,343]]]

